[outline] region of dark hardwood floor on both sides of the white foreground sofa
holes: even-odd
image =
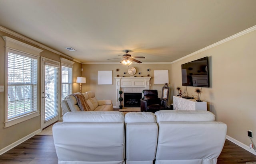
[[[0,164],[58,164],[53,137],[35,135],[2,154]],[[226,140],[217,164],[256,164],[256,156]]]

